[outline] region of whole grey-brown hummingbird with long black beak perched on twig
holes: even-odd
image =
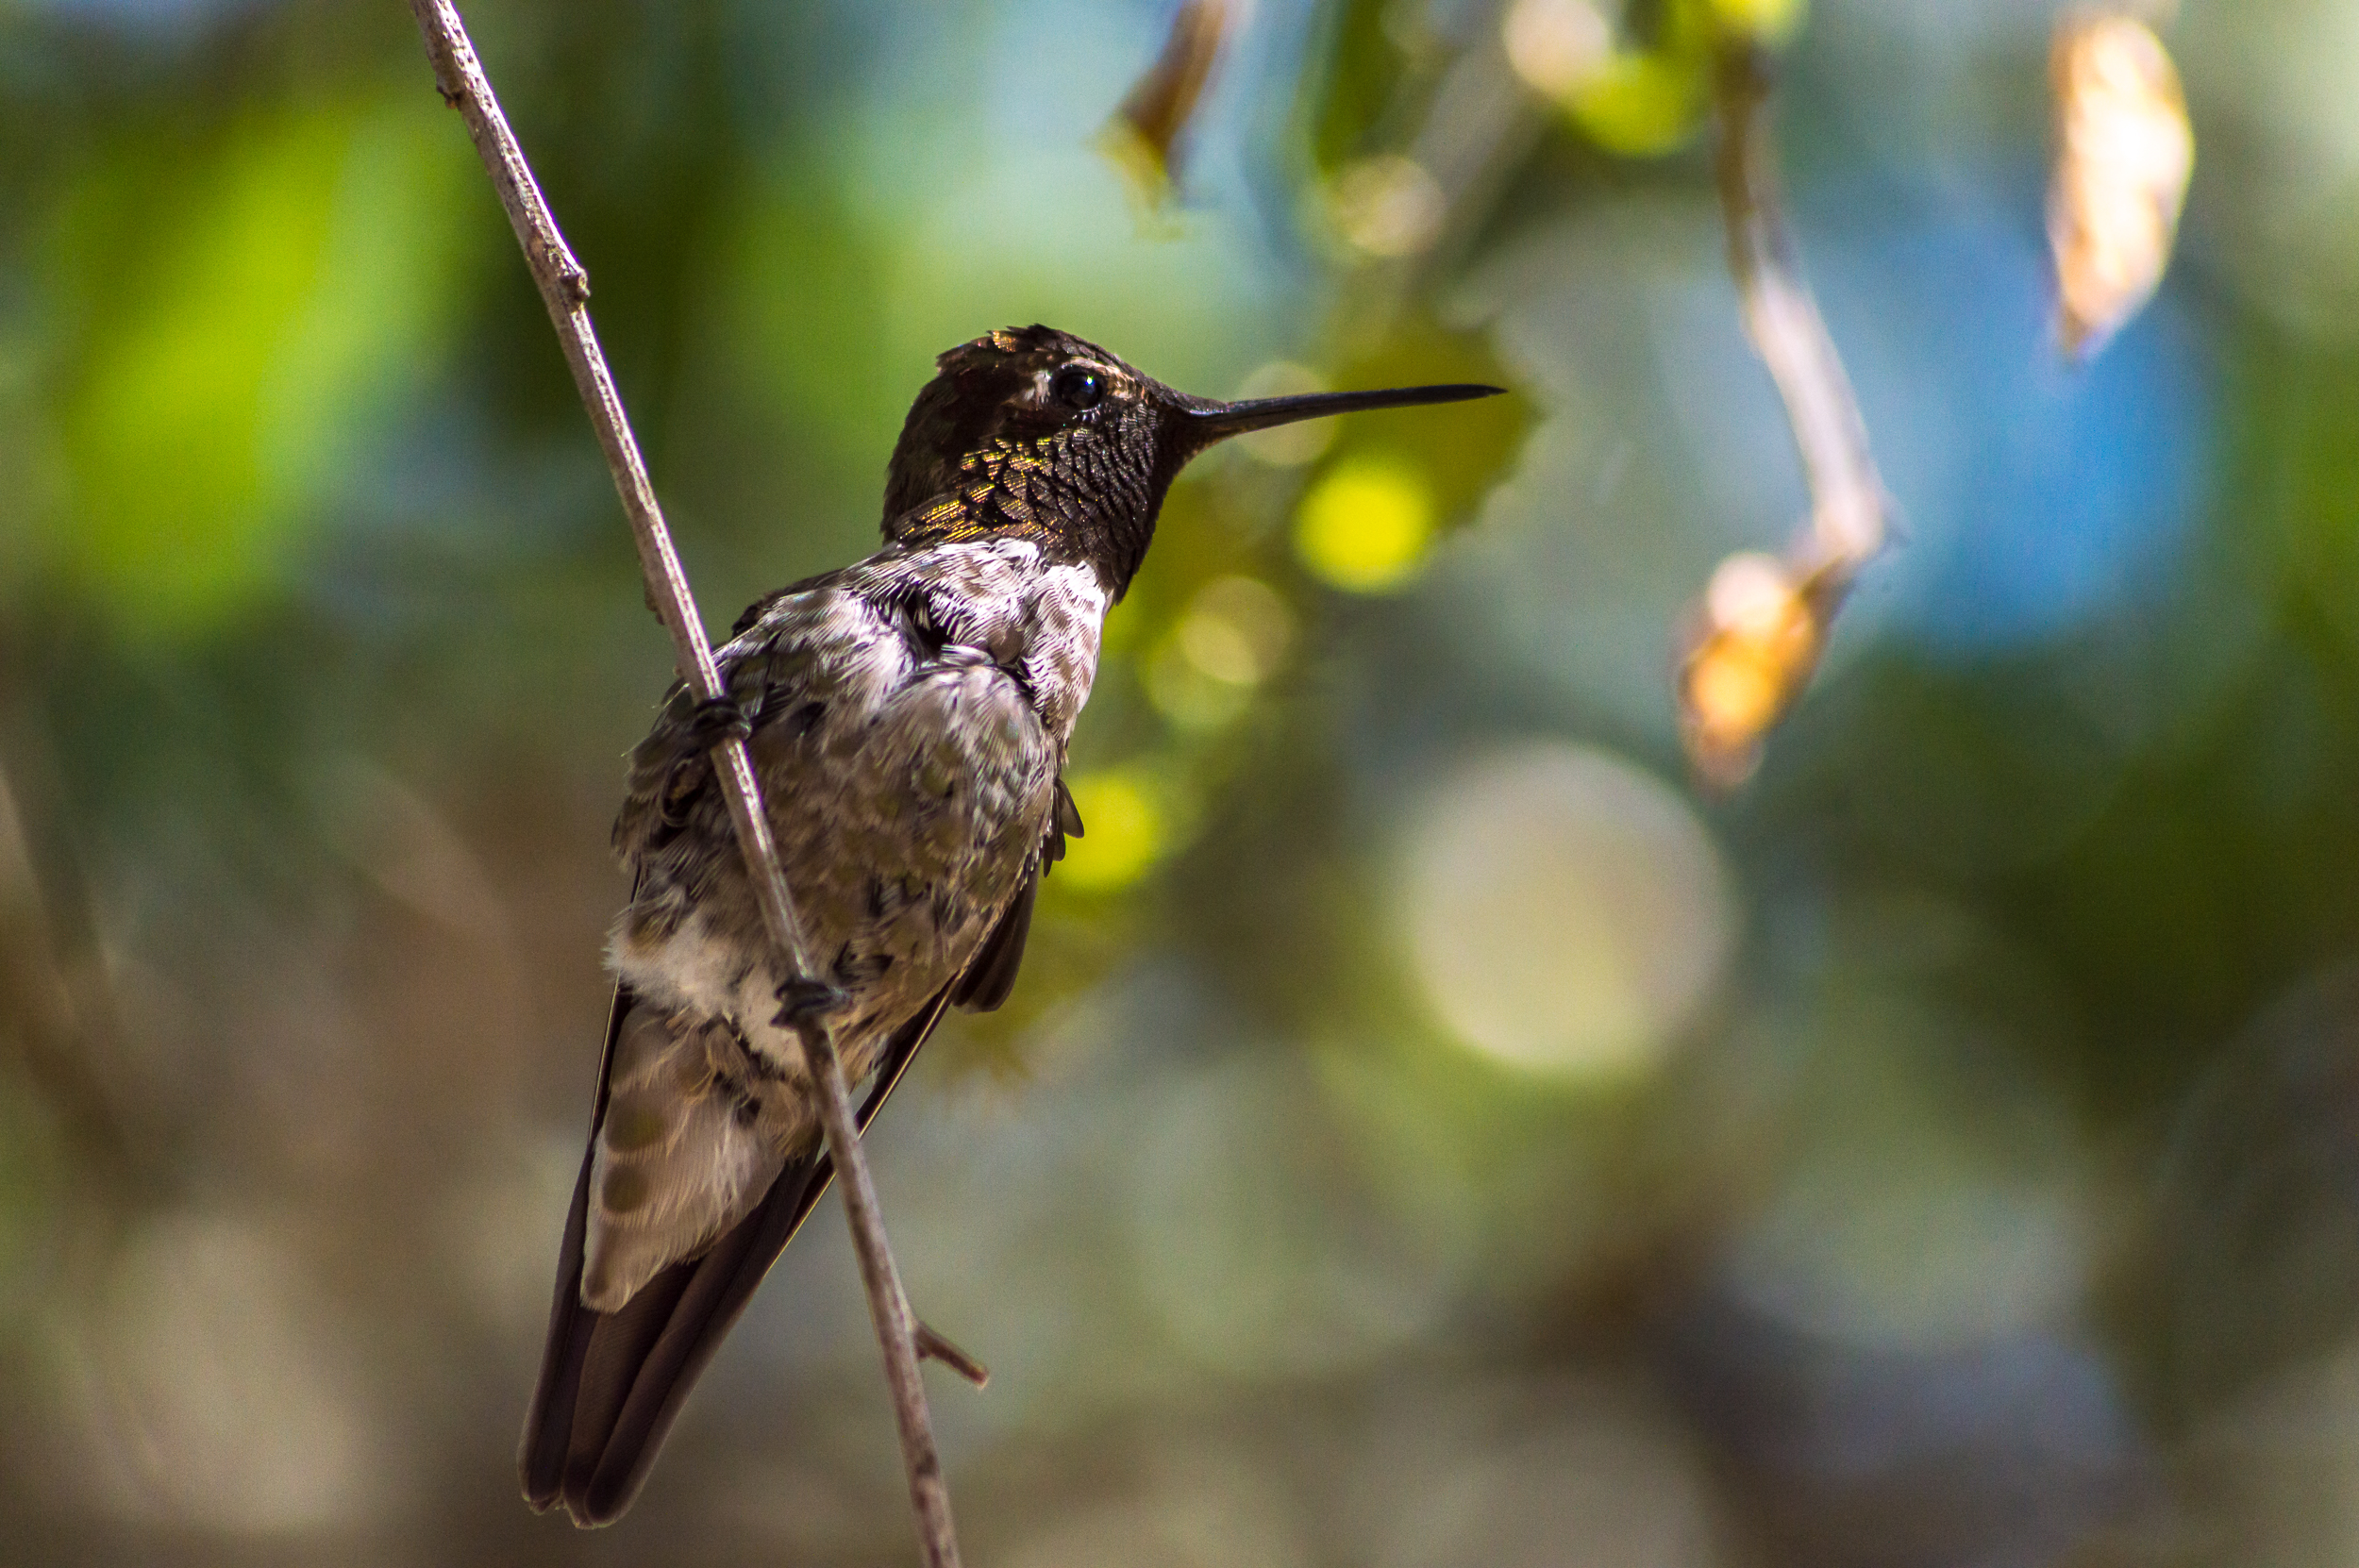
[[[1182,467],[1229,436],[1498,387],[1222,403],[1045,325],[948,349],[885,476],[885,547],[755,601],[630,752],[632,872],[590,1148],[519,1469],[535,1511],[620,1518],[689,1386],[826,1191],[800,1023],[859,1125],[951,1007],[1007,1000],[1040,877],[1083,832],[1066,740],[1099,632]],[[823,974],[762,927],[712,747],[745,740]]]

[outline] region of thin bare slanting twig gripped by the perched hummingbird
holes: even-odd
[[[564,347],[566,365],[573,368],[573,384],[580,389],[590,424],[606,453],[613,472],[613,488],[623,498],[632,538],[639,545],[639,568],[646,575],[646,597],[672,634],[679,651],[679,679],[698,698],[724,696],[719,672],[712,663],[712,646],[705,641],[705,622],[689,592],[689,578],[672,549],[672,535],[656,505],[656,488],[649,483],[639,443],[630,434],[630,417],[616,391],[613,373],[599,351],[597,332],[590,328],[590,274],[573,259],[557,219],[550,215],[533,170],[524,160],[517,134],[500,113],[500,101],[491,92],[484,61],[477,59],[474,42],[451,0],[410,0],[418,28],[425,33],[427,54],[434,61],[434,78],[443,101],[467,118],[467,134],[474,137],[477,153],[491,172],[491,184],[500,193],[507,222],[517,231],[524,259],[540,285],[540,299],[550,307],[557,340]],[[778,868],[778,849],[771,842],[769,816],[762,811],[762,788],[753,773],[753,759],[743,740],[724,740],[712,747],[715,771],[722,795],[729,802],[729,821],[736,825],[738,849],[745,854],[745,870],[753,879],[755,901],[762,908],[762,924],[788,969],[797,976],[819,974],[811,967],[802,924],[795,917],[795,901],[786,889]],[[934,1448],[934,1427],[925,1403],[925,1384],[918,1377],[918,1346],[908,1299],[901,1294],[901,1276],[892,1261],[892,1245],[885,1240],[885,1221],[878,1212],[875,1184],[868,1177],[868,1160],[861,1153],[861,1137],[852,1122],[852,1096],[845,1085],[845,1066],[828,1037],[826,1026],[802,1026],[802,1049],[819,1087],[821,1125],[828,1134],[828,1153],[845,1186],[845,1217],[852,1224],[852,1245],[861,1261],[861,1280],[868,1287],[868,1311],[875,1320],[878,1344],[885,1351],[885,1379],[892,1384],[894,1419],[901,1427],[901,1462],[908,1469],[911,1507],[918,1516],[918,1542],[925,1547],[929,1568],[958,1566],[958,1535],[951,1528],[951,1493],[941,1478],[941,1457]]]

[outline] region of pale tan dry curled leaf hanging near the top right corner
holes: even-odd
[[[2057,337],[2078,356],[2135,316],[2163,281],[2196,137],[2170,52],[2142,21],[2064,17],[2048,71],[2057,99],[2048,191]]]

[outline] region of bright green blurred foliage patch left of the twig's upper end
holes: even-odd
[[[68,549],[123,632],[248,608],[448,351],[486,236],[446,132],[415,94],[262,108],[198,146],[123,137],[66,191]]]

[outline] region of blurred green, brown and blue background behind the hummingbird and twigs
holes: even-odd
[[[967,1561],[2359,1556],[2359,2],[2158,17],[2066,363],[2057,7],[1710,0],[1897,509],[1729,795],[1698,7],[1231,7],[1161,200],[1172,0],[472,7],[715,625],[995,325],[1517,389],[1198,462],[1109,625],[870,1139]],[[0,1556],[913,1561],[833,1203],[630,1518],[517,1500],[670,648],[406,7],[0,2]]]

